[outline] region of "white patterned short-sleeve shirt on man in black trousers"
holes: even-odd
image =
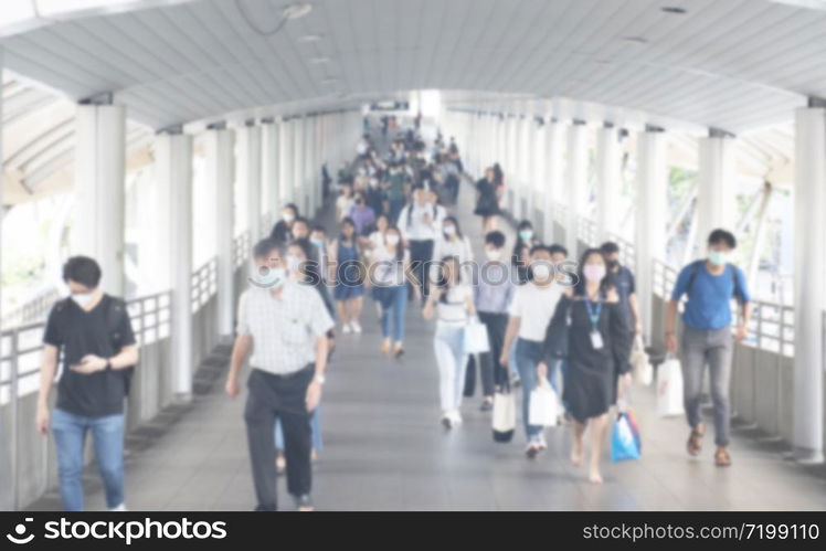
[[[275,374],[299,371],[316,360],[316,340],[333,326],[324,300],[310,286],[287,282],[272,289],[250,287],[239,300],[239,335],[253,338],[253,368]]]

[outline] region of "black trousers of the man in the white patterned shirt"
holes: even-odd
[[[284,431],[284,457],[287,462],[287,491],[294,496],[310,492],[311,428],[306,407],[307,386],[315,374],[313,364],[286,375],[253,369],[247,380],[244,409],[250,462],[253,468],[258,509],[277,510],[275,481],[275,420]]]

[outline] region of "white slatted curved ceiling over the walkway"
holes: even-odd
[[[286,4],[237,1],[264,29]],[[740,134],[826,96],[826,12],[769,0],[313,0],[268,38],[237,1],[92,11],[0,44],[15,73],[72,99],[113,91],[152,128],[440,88],[575,98]],[[329,63],[310,63],[319,56]]]

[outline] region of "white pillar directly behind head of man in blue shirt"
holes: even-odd
[[[698,141],[696,254],[717,227],[734,231],[734,140],[722,136]]]

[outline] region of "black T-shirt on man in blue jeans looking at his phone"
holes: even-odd
[[[124,413],[129,377],[126,371],[107,369],[84,374],[68,369],[86,354],[112,358],[124,347],[135,345],[123,300],[104,295],[89,311],[71,298],[59,301],[49,314],[43,342],[63,351],[57,409],[87,417]]]

